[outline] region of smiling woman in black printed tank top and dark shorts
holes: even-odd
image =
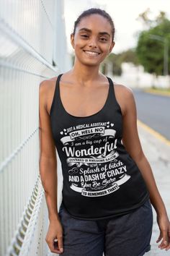
[[[144,255],[151,247],[151,204],[159,247],[170,248],[169,218],[140,145],[132,90],[99,72],[114,35],[107,12],[83,12],[71,34],[73,69],[40,85],[40,176],[51,252]],[[59,213],[55,147],[63,170]]]

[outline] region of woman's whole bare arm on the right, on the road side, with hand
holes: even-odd
[[[122,143],[140,169],[143,179],[146,182],[148,192],[150,193],[151,204],[156,210],[157,222],[160,229],[160,235],[156,242],[160,242],[162,239],[161,244],[159,244],[158,247],[168,250],[170,249],[170,223],[166,213],[166,207],[158,192],[151,166],[140,145],[137,127],[137,112],[133,92],[130,88],[124,88],[124,90]]]

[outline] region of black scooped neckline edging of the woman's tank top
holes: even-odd
[[[112,89],[112,88],[111,88],[111,87],[112,87],[112,82],[111,82],[111,80],[109,79],[109,77],[107,77],[107,80],[109,81],[109,89],[108,89],[106,101],[104,102],[104,106],[102,106],[102,108],[99,109],[99,111],[97,111],[96,113],[91,114],[91,115],[89,115],[89,116],[74,116],[74,115],[68,113],[68,111],[66,111],[66,108],[63,106],[63,102],[61,101],[60,80],[61,80],[61,76],[62,76],[62,75],[63,75],[63,74],[59,74],[59,75],[58,75],[58,79],[57,79],[57,81],[56,81],[56,83],[57,83],[56,86],[57,86],[57,89],[58,89],[58,100],[60,101],[60,104],[61,104],[61,107],[63,108],[63,111],[64,111],[68,116],[71,116],[71,117],[73,117],[73,118],[75,118],[75,119],[86,119],[86,118],[90,118],[90,117],[92,117],[92,116],[97,116],[97,114],[100,114],[102,111],[104,111],[104,108],[106,108],[107,103],[108,103],[108,101],[109,101],[109,97],[110,97],[111,89]]]

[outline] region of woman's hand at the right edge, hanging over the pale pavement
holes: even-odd
[[[168,216],[157,216],[157,222],[160,229],[160,234],[158,236],[157,243],[161,241],[161,244],[158,245],[161,249],[170,249],[170,222]]]

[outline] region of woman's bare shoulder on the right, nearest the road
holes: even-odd
[[[126,85],[118,84],[116,82],[114,82],[114,88],[117,103],[120,105],[122,114],[124,115],[130,106],[134,106],[135,98],[133,90]]]

